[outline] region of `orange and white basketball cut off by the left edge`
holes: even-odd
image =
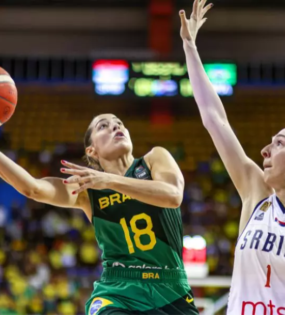
[[[14,80],[0,67],[0,125],[12,117],[17,99],[18,92]]]

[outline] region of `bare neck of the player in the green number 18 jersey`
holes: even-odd
[[[116,160],[100,159],[100,164],[106,173],[124,176],[134,161],[132,154],[126,154]]]

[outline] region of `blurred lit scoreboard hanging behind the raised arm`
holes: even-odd
[[[233,94],[237,83],[235,64],[205,64],[205,71],[220,96]],[[96,60],[95,93],[100,96],[191,97],[187,66],[183,62],[129,62]]]

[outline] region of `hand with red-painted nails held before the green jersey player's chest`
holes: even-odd
[[[61,168],[61,172],[64,174],[70,174],[69,178],[65,179],[64,184],[78,183],[79,188],[72,192],[73,195],[79,194],[88,188],[102,190],[106,189],[110,181],[110,175],[108,173],[99,172],[88,167],[79,166],[66,161],[61,161],[65,168]]]

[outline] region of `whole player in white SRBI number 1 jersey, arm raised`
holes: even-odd
[[[242,199],[227,315],[285,315],[285,129],[262,151],[264,170],[244,152],[204,71],[195,38],[212,4],[180,11],[189,78],[203,124]]]

